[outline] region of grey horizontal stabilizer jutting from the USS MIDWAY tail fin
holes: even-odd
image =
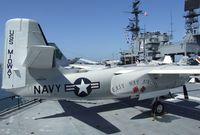
[[[24,66],[28,68],[52,68],[54,59],[53,46],[31,46],[28,48],[28,54],[24,62]]]

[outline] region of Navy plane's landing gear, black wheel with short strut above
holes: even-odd
[[[152,103],[152,114],[155,115],[163,115],[165,111],[165,106],[163,103],[159,101],[159,98],[155,98]]]

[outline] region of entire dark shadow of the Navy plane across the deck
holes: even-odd
[[[104,119],[98,113],[124,109],[124,108],[129,108],[129,107],[135,107],[135,106],[150,108],[150,104],[151,104],[151,100],[137,101],[136,99],[129,99],[129,98],[120,99],[119,102],[109,103],[109,104],[104,104],[104,105],[99,105],[99,106],[94,106],[94,107],[89,107],[89,108],[79,105],[75,102],[70,102],[66,100],[59,100],[58,102],[64,110],[63,113],[36,118],[36,120],[72,116],[84,122],[85,124],[97,130],[100,130],[106,134],[120,132],[120,129],[114,126],[112,123],[110,123],[106,119]],[[163,103],[166,105],[167,113],[200,121],[200,109],[195,108],[196,106],[200,105],[200,103],[185,101],[185,100],[180,101],[178,103],[169,104],[167,101],[164,101]],[[192,108],[195,108],[195,109],[192,109]],[[157,118],[156,120],[159,122],[169,123],[175,119],[180,119],[180,117],[172,116],[170,114],[165,114],[162,117]],[[151,111],[147,110],[147,111],[141,111],[140,114],[130,118],[130,120],[145,119],[145,118],[150,118],[150,117],[152,117]]]

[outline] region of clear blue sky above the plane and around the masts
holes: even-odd
[[[38,21],[48,42],[54,42],[67,58],[91,60],[118,58],[128,49],[125,31],[133,0],[1,0],[0,61],[3,59],[4,25],[8,19]],[[184,0],[141,0],[140,26],[146,31],[170,31],[172,14],[174,41],[184,30]]]

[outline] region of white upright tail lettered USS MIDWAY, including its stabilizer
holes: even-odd
[[[47,46],[37,22],[20,18],[8,20],[5,28],[2,88],[26,86],[27,69],[52,67],[53,53],[54,47]],[[46,57],[49,60],[42,62]]]

